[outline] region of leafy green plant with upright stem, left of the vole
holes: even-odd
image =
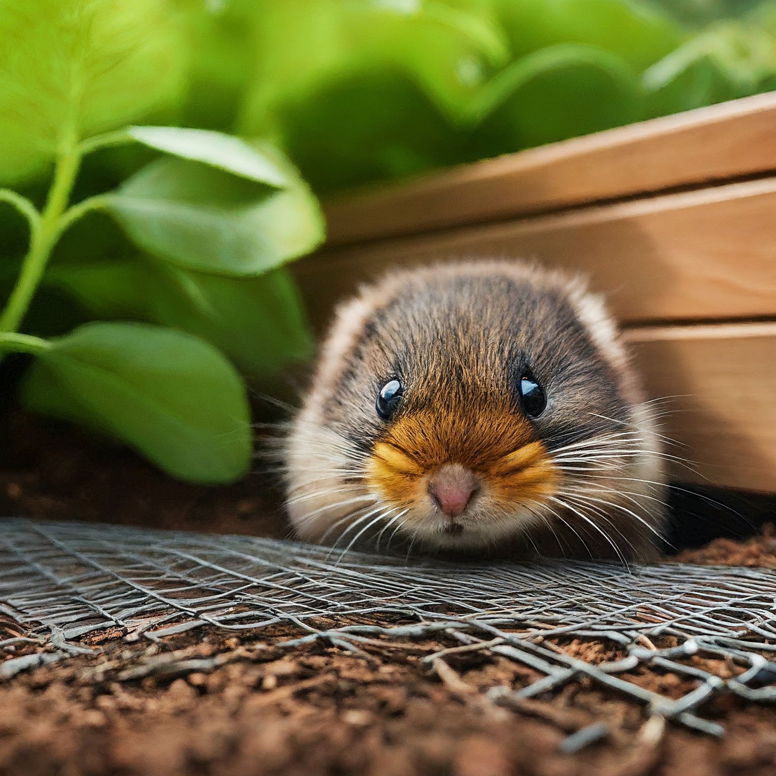
[[[257,375],[307,353],[300,302],[279,267],[314,248],[323,223],[268,144],[127,126],[175,113],[185,85],[176,22],[161,0],[0,0],[0,181],[16,185],[0,201],[28,225],[0,351],[34,357],[21,387],[33,411],[107,432],[175,476],[225,483],[251,462],[235,365]],[[128,144],[154,158],[113,189],[74,197],[90,155]],[[39,207],[35,185],[50,165]],[[99,187],[96,177],[87,185]],[[90,261],[71,245],[50,264],[68,230],[97,213],[133,249]],[[54,338],[20,333],[45,287],[78,300],[86,322]],[[113,318],[130,320],[104,320]]]

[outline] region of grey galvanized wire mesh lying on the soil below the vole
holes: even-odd
[[[289,647],[324,639],[359,652],[376,636],[434,636],[451,646],[429,663],[489,650],[538,672],[539,681],[518,691],[492,688],[504,705],[588,677],[653,714],[719,734],[696,713],[709,698],[776,701],[776,662],[767,658],[776,652],[770,570],[442,563],[246,536],[9,519],[0,522],[0,602],[64,653],[78,651],[74,639],[108,628],[160,639],[206,624],[293,624],[303,635]],[[553,649],[556,637],[614,643],[624,657],[587,663]],[[721,657],[735,670],[722,678],[692,656]],[[695,680],[695,688],[671,699],[639,687],[628,677],[641,666]]]

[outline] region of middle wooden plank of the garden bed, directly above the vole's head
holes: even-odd
[[[623,321],[776,315],[776,178],[332,248],[293,271],[314,323],[387,267],[534,258],[591,275]]]

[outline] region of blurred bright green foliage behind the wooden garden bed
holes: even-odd
[[[187,8],[185,120],[272,136],[321,194],[776,88],[772,0]]]

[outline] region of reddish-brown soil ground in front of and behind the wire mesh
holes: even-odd
[[[24,417],[13,423],[7,438],[17,442],[0,467],[4,514],[286,533],[258,477],[215,490],[172,483],[130,452]],[[772,532],[718,539],[678,559],[773,568],[774,545]],[[5,659],[35,649],[13,640],[21,635],[0,615]],[[727,696],[711,702],[702,711],[726,727],[722,740],[648,720],[641,706],[584,681],[501,708],[483,690],[524,686],[532,670],[470,653],[429,671],[421,658],[444,646],[431,641],[370,647],[368,656],[320,643],[293,652],[275,646],[295,635],[199,629],[126,643],[92,634],[82,644],[91,653],[0,684],[0,774],[776,774],[772,708]],[[587,660],[617,654],[605,643],[555,647]],[[627,678],[674,697],[692,686],[643,667]],[[570,735],[601,721],[604,738],[564,753]]]

